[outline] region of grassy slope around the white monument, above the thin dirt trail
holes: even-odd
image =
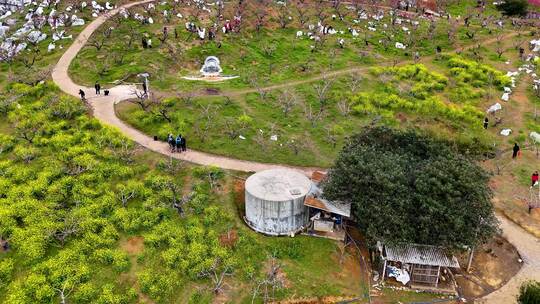
[[[158,11],[162,9],[168,9],[168,6],[159,6]],[[230,9],[230,7],[226,8],[226,13],[232,13],[228,11]],[[294,11],[294,6],[292,10]],[[139,8],[133,11],[142,13]],[[182,7],[179,11],[188,15],[189,10]],[[313,9],[308,10],[308,13],[313,14]],[[333,13],[329,7],[327,14],[330,16]],[[291,15],[295,17],[294,13]],[[140,22],[133,20],[124,20],[121,23],[110,21],[103,26],[103,28],[114,27],[112,36],[107,39],[105,46],[101,50],[91,45],[84,48],[70,67],[70,74],[76,82],[91,85],[95,81],[111,83],[120,79],[136,82],[137,79],[134,76],[137,73],[149,72],[152,86],[161,91],[199,91],[207,87],[227,91],[252,87],[253,78],[258,78],[257,82],[260,84],[268,85],[304,79],[327,70],[373,65],[393,59],[410,59],[412,50],[396,49],[395,41],[415,44],[414,49],[422,56],[434,54],[437,45],[443,50],[453,48],[447,39],[449,25],[444,19],[437,23],[433,37],[428,38],[429,22],[427,21],[421,21],[416,32],[407,35],[402,30],[402,26],[411,30],[410,24],[396,24],[392,29],[388,26],[391,24],[388,17],[379,23],[376,32],[367,30],[368,24],[365,20],[355,24],[352,14],[348,15],[345,21],[329,18],[328,25],[338,31],[343,31],[343,34],[338,32],[336,35],[328,35],[324,44],[317,46],[312,52],[311,47],[315,45],[313,40],[306,36],[296,37],[298,30],[304,33],[309,31],[307,28],[302,28],[298,21],[295,20],[282,29],[275,19],[271,19],[267,21],[266,27],[256,32],[251,28],[254,22],[253,16],[248,14],[246,18],[246,25],[241,33],[223,35],[219,32],[219,43],[200,41],[196,35],[188,33],[184,28],[186,19],[164,20],[158,15],[154,16],[155,23],[151,25],[141,25]],[[206,21],[202,23],[209,25]],[[471,29],[479,29],[480,24],[477,24],[476,20],[472,23]],[[316,21],[310,18],[307,24],[316,24]],[[388,28],[385,29],[383,24],[386,24]],[[169,29],[169,38],[162,45],[159,37],[162,35],[163,26]],[[350,27],[359,31],[360,35],[353,38],[347,30]],[[174,37],[174,29],[177,30],[178,38]],[[470,29],[465,29],[462,25],[458,28],[457,44],[470,43],[465,36],[467,30]],[[312,32],[316,31],[315,29]],[[381,39],[385,39],[386,36],[383,34],[385,31],[390,31],[392,35],[392,41],[387,47],[379,43]],[[127,37],[132,33],[136,33],[137,36],[129,46]],[[94,34],[99,39],[101,35],[101,33]],[[144,35],[152,39],[153,48],[142,49],[140,40]],[[369,46],[364,43],[365,37]],[[477,38],[485,37],[488,37],[488,30],[479,29]],[[346,41],[343,49],[338,46],[338,40],[341,38]],[[365,53],[366,56],[361,53]],[[240,78],[210,85],[181,78],[185,75],[198,74],[204,59],[210,55],[220,58],[224,74],[238,75]]]

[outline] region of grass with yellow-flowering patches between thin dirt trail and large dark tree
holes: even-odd
[[[230,99],[173,98],[168,108],[171,123],[157,115],[155,109],[145,112],[129,102],[117,105],[116,111],[128,124],[161,140],[169,133],[181,133],[192,149],[259,162],[328,167],[346,137],[374,119],[393,126],[427,129],[443,138],[476,146],[477,152],[488,149],[493,139],[479,123],[483,119],[480,105],[483,106],[485,95],[482,84],[472,86],[459,80],[462,75],[452,75],[446,59],[428,67],[422,73],[433,73],[434,67],[452,85],[439,84],[433,90],[429,89],[433,84],[428,78],[408,79],[409,75],[398,76],[392,69],[383,68],[379,69],[380,75],[360,75],[356,93],[346,92],[350,90],[350,76],[335,78],[322,112],[314,87],[322,82],[288,89],[297,102],[287,115],[279,102],[284,90],[271,91],[264,99],[257,93]],[[398,71],[405,73],[406,68]],[[499,91],[496,87],[492,90]],[[471,96],[470,92],[477,93]],[[386,100],[389,97],[393,99]],[[343,103],[350,108],[347,115],[340,110]],[[310,119],[309,107],[313,116],[319,117]],[[249,121],[242,124],[240,119],[245,116]],[[271,141],[271,135],[277,135],[278,140]]]

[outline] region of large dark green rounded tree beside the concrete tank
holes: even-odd
[[[350,138],[324,183],[370,241],[475,245],[497,231],[489,176],[448,144],[385,127]]]

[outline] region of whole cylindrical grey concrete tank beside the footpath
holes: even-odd
[[[269,235],[290,235],[308,223],[311,181],[292,169],[258,172],[246,181],[246,223]]]

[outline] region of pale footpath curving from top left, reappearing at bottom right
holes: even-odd
[[[122,100],[130,99],[133,97],[133,92],[136,90],[135,86],[120,85],[110,89],[109,96],[95,95],[93,88],[83,87],[74,83],[69,77],[68,69],[73,59],[77,56],[79,51],[84,47],[88,38],[92,33],[97,30],[107,19],[117,14],[121,8],[129,8],[136,5],[141,5],[156,0],[143,0],[126,4],[120,8],[114,9],[107,14],[101,15],[86,26],[86,28],[77,37],[74,43],[66,50],[62,55],[58,63],[53,69],[52,79],[55,84],[65,93],[78,97],[79,89],[83,89],[86,92],[87,99],[93,109],[93,114],[100,122],[105,125],[112,126],[118,129],[129,139],[137,142],[139,145],[176,159],[192,162],[195,164],[206,166],[218,166],[223,169],[244,171],[244,172],[257,172],[266,169],[273,168],[293,168],[310,175],[318,168],[304,168],[285,166],[280,164],[264,164],[251,161],[243,161],[232,159],[223,156],[212,155],[209,153],[188,150],[182,154],[171,154],[168,144],[165,142],[154,141],[153,138],[143,134],[142,132],[132,128],[117,116],[114,109],[114,105]],[[361,70],[358,68],[356,70]],[[336,74],[353,72],[355,69],[349,69],[347,71],[334,72]],[[277,85],[276,87],[281,87]],[[539,239],[530,235],[521,227],[517,226],[510,220],[498,216],[501,222],[501,228],[503,236],[512,243],[519,251],[523,259],[523,267],[507,282],[503,287],[497,291],[485,296],[482,299],[478,299],[478,303],[485,304],[509,304],[516,302],[516,296],[519,293],[519,286],[527,280],[540,281],[540,242]]]

